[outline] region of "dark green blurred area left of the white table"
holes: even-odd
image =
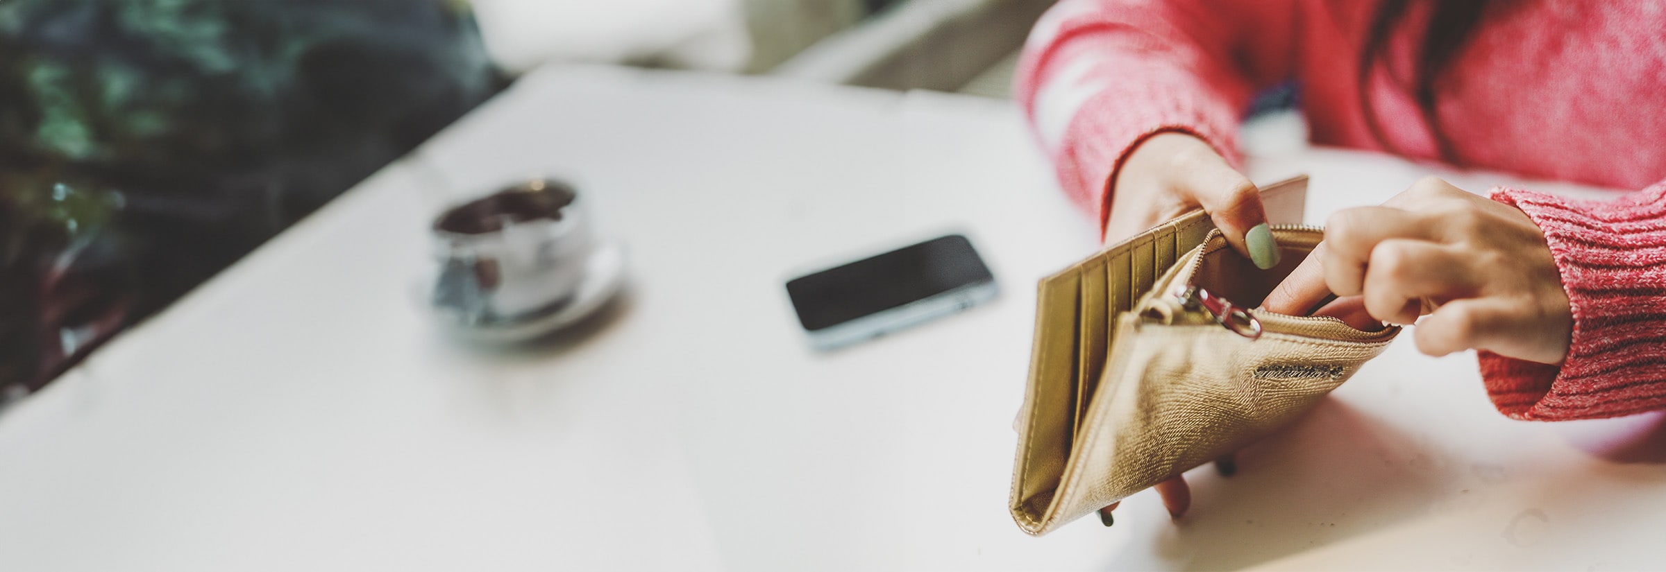
[[[461,2],[0,2],[0,387],[38,387],[496,81]]]

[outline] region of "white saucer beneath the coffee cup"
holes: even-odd
[[[465,326],[445,321],[443,324],[451,334],[470,341],[491,344],[528,341],[585,319],[613,299],[620,286],[625,286],[625,248],[618,243],[606,243],[585,261],[585,279],[573,293],[573,299],[560,309],[505,323]]]

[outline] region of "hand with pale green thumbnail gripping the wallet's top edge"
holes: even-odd
[[[1210,143],[1186,133],[1153,135],[1128,155],[1111,190],[1105,241],[1121,241],[1200,206],[1256,266],[1278,264],[1278,244],[1254,183]]]

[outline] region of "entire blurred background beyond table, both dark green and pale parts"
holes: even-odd
[[[0,2],[0,396],[543,65],[1008,96],[1046,0]]]

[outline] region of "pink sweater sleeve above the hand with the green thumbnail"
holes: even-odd
[[[1036,23],[1016,88],[1066,195],[1100,226],[1123,158],[1185,131],[1238,161],[1258,86],[1289,75],[1294,2],[1061,0]]]

